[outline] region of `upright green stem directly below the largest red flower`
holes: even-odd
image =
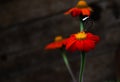
[[[79,82],[83,82],[84,68],[85,68],[85,52],[81,52],[81,66],[80,66]]]

